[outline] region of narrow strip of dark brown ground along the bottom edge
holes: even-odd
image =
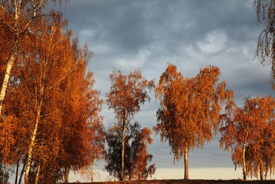
[[[76,184],[79,182],[72,182]],[[275,184],[275,180],[203,180],[203,179],[168,179],[168,180],[134,180],[134,181],[104,181],[104,182],[93,182],[94,184]],[[82,184],[91,184],[91,182],[82,182]]]

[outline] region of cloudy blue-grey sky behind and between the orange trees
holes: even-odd
[[[69,28],[93,52],[88,68],[94,73],[101,98],[108,91],[112,67],[124,73],[140,68],[146,79],[157,82],[166,63],[191,77],[201,67],[220,68],[220,80],[234,90],[235,101],[243,97],[266,96],[274,92],[268,85],[270,66],[255,58],[256,42],[262,26],[257,26],[252,0],[209,1],[115,1],[70,0],[63,10]],[[135,118],[142,126],[156,125],[158,103],[146,103]],[[113,112],[103,106],[104,126],[113,122]],[[183,160],[173,164],[167,143],[159,136],[148,147],[156,165],[154,178],[183,178]],[[202,150],[189,154],[190,178],[242,178],[234,171],[230,153],[219,149],[219,135]],[[107,180],[97,165],[97,180]],[[273,177],[274,178],[274,177]],[[81,180],[71,174],[70,181]]]

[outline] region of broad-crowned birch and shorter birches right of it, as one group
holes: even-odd
[[[219,130],[220,147],[232,153],[233,163],[246,176],[263,179],[275,169],[275,99],[245,98],[237,107],[233,91],[225,82],[217,83],[220,71],[208,66],[193,78],[184,78],[168,64],[155,88],[160,101],[154,131],[168,141],[174,159],[184,159],[184,179],[188,179],[188,152],[202,148]],[[225,104],[225,112],[220,114]]]

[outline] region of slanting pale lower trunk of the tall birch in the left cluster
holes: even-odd
[[[25,170],[25,177],[24,177],[24,183],[28,184],[28,174],[29,174],[29,169],[30,169],[30,163],[31,163],[31,157],[32,157],[32,149],[35,145],[35,140],[36,140],[36,133],[37,133],[37,128],[38,128],[38,123],[40,120],[40,108],[41,108],[41,101],[37,109],[37,114],[36,114],[36,121],[34,125],[34,130],[31,135],[31,141],[28,147],[28,154],[27,154],[27,160],[26,160],[26,170]]]

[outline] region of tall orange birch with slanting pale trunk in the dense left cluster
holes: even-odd
[[[21,118],[29,127],[25,183],[28,183],[33,150],[46,137],[40,134],[46,132],[43,127],[51,128],[50,131],[54,132],[61,125],[58,105],[62,98],[59,86],[73,70],[70,62],[75,58],[70,43],[71,34],[64,34],[61,25],[60,16],[40,20],[38,27],[32,28],[35,35],[29,39],[30,44],[22,50],[24,65],[21,65],[21,70],[24,73],[20,82],[23,86],[21,100],[24,101],[21,103]],[[35,29],[38,29],[37,32]],[[37,139],[40,136],[43,138]],[[58,141],[59,138],[56,138]]]

